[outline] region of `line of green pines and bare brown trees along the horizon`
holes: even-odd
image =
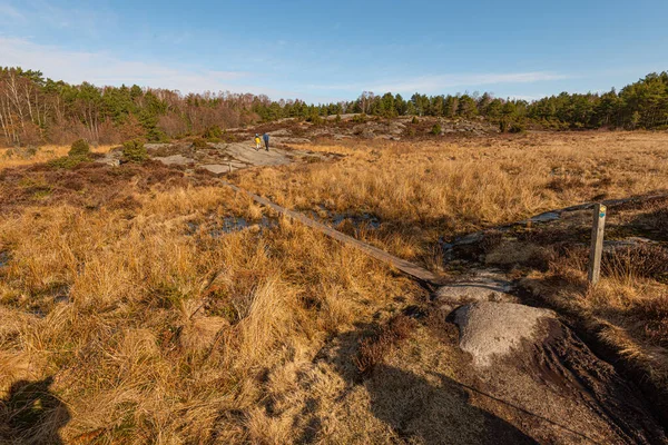
[[[4,145],[70,144],[87,139],[119,144],[132,138],[159,141],[202,135],[210,128],[235,128],[283,118],[322,121],[325,116],[365,113],[380,117],[432,116],[483,118],[502,130],[537,126],[547,129],[668,128],[668,72],[650,73],[605,93],[568,93],[540,100],[482,95],[363,92],[332,103],[273,101],[267,96],[233,92],[181,95],[138,86],[70,85],[40,71],[0,67],[0,137]]]

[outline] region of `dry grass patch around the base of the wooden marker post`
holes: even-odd
[[[645,364],[668,382],[668,250],[639,246],[608,253],[598,286],[587,284],[589,250],[569,249],[556,257],[548,271],[527,283],[558,307],[605,324],[603,340],[629,357],[647,356]]]

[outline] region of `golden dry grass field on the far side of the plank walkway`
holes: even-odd
[[[370,214],[361,235],[405,258],[444,236],[601,198],[668,189],[668,135],[531,134],[434,142],[347,141],[306,148],[334,165],[242,171],[237,182],[296,209]]]

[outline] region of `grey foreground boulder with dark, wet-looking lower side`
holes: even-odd
[[[553,312],[481,301],[460,307],[453,319],[480,394],[530,414],[540,443],[667,443],[638,388]]]

